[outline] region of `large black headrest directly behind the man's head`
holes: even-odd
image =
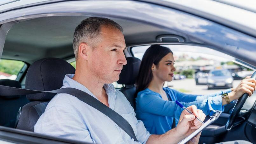
[[[40,91],[51,91],[63,86],[66,74],[74,74],[75,68],[63,59],[43,58],[35,61],[28,69],[25,88]],[[28,94],[27,99],[51,100],[55,93]]]

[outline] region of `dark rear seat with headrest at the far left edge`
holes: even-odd
[[[0,85],[21,88],[20,82],[10,79],[0,79]],[[15,127],[19,108],[29,102],[25,95],[0,96],[0,125]]]

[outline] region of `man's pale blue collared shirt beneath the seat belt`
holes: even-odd
[[[73,87],[96,98],[85,86],[73,80],[73,76],[74,74],[65,76],[62,88]],[[129,122],[139,142],[134,141],[105,114],[65,93],[55,95],[49,102],[34,126],[34,131],[91,143],[146,143],[150,134],[142,121],[136,119],[134,109],[126,97],[112,84],[105,84],[103,87],[108,96],[109,107]]]

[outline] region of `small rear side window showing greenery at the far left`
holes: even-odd
[[[23,74],[22,68],[26,64],[18,60],[1,59],[0,60],[0,79],[16,80],[20,74]]]

